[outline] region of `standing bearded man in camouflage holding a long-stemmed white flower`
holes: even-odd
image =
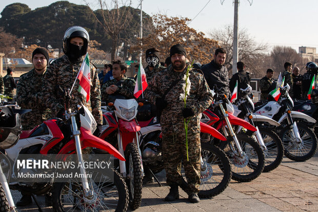
[[[186,108],[180,95],[184,93],[184,76],[187,67],[186,51],[180,45],[170,49],[172,65],[157,72],[149,82],[145,97],[162,110],[161,127],[163,132],[163,159],[167,172],[167,184],[171,187],[165,201],[179,198],[178,186],[181,186],[189,195],[190,202],[199,202],[197,196],[200,187],[200,118],[199,114],[212,103],[212,94],[206,83],[203,73],[191,68],[189,80],[190,92],[187,95]],[[176,81],[177,80],[177,81]],[[175,86],[170,87],[173,82]],[[167,92],[163,98],[163,95]],[[188,153],[187,161],[184,118],[190,119],[188,125]],[[187,184],[181,176],[181,161],[184,161]]]

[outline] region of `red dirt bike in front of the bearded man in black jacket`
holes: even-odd
[[[246,134],[235,134],[232,125],[256,131],[247,121],[234,117],[234,108],[225,95],[216,93],[211,107],[202,113],[201,122],[215,127],[227,138],[227,142],[202,134],[202,140],[213,143],[226,152],[232,165],[232,178],[248,182],[259,177],[264,169],[264,153],[261,146]]]

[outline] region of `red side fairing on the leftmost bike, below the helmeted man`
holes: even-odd
[[[48,151],[53,146],[55,146],[58,142],[61,142],[64,139],[64,134],[57,126],[55,119],[50,119],[50,120],[44,121],[43,123],[45,123],[48,126],[53,136],[52,139],[48,140],[40,150],[41,154],[47,155]]]

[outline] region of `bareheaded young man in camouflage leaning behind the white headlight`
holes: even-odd
[[[135,88],[135,81],[127,78],[125,75],[127,66],[122,61],[113,61],[113,80],[107,81],[102,86],[102,101],[113,102],[113,99],[109,99],[110,94],[124,95],[127,99],[133,99],[133,92]]]

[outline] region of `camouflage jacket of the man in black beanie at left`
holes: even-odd
[[[23,130],[33,129],[51,118],[50,109],[46,108],[42,98],[42,84],[46,71],[38,75],[34,69],[20,76],[16,87],[17,104],[31,112],[22,115]]]

